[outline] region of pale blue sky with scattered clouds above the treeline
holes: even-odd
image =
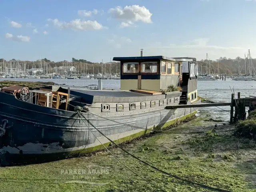
[[[0,58],[256,58],[256,0],[0,0]]]

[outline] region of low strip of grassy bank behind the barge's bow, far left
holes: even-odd
[[[27,82],[27,81],[0,81],[0,88],[9,86],[24,86],[28,88],[38,88],[43,86],[54,85],[54,82]]]

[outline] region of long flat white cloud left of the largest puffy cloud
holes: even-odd
[[[70,22],[63,22],[59,21],[58,19],[48,19],[49,22],[52,22],[52,24],[60,29],[66,29],[70,28],[73,30],[100,30],[104,28],[102,24],[98,23],[97,21],[91,21],[91,20],[80,20],[75,19]]]

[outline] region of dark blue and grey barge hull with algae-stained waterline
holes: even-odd
[[[6,122],[6,132],[0,137],[1,166],[47,162],[103,149],[87,126],[103,144],[110,145],[97,130],[87,122],[84,124],[75,112],[30,104],[2,92],[0,97],[0,126],[2,124],[3,128]],[[200,100],[196,103],[200,103]],[[161,109],[110,117],[126,125],[90,113],[84,113],[84,116],[110,139],[122,143],[142,136],[151,129],[165,128],[178,119],[193,115],[196,110],[197,108]]]

